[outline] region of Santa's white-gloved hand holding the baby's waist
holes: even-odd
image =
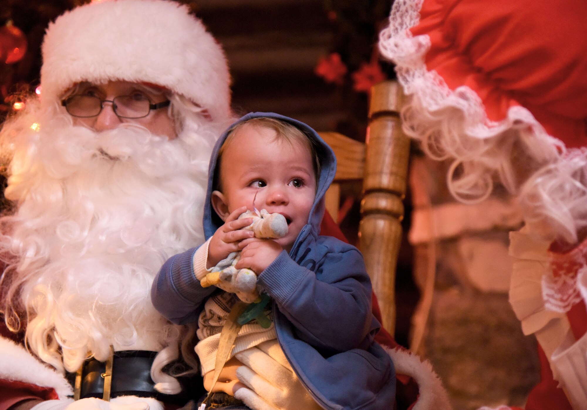
[[[236,354],[239,388],[234,397],[253,410],[321,409],[303,387],[276,340],[268,340]]]

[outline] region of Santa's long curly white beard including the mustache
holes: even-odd
[[[110,344],[177,344],[180,328],[156,312],[150,288],[168,257],[204,240],[216,133],[202,125],[201,145],[190,146],[193,135],[168,141],[133,125],[96,133],[67,122],[15,142],[5,194],[18,209],[0,220],[0,247],[15,257],[3,286],[27,310],[29,347],[75,371],[87,354],[105,360]]]

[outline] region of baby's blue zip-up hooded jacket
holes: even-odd
[[[396,378],[393,363],[374,341],[380,328],[372,314],[372,288],[357,248],[319,235],[324,195],[336,172],[332,149],[308,125],[282,115],[254,112],[238,122],[269,117],[288,122],[317,142],[321,172],[308,223],[289,254],[284,250],[258,276],[274,300],[277,339],[312,397],[325,409],[392,409]],[[233,126],[235,125],[233,124]],[[232,127],[231,127],[232,128]],[[210,160],[204,233],[210,238],[223,222],[211,206],[218,140]],[[171,322],[197,323],[205,300],[218,288],[202,288],[193,271],[193,248],[168,259],[157,275],[153,305]]]

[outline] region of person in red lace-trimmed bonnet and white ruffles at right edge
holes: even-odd
[[[528,410],[587,408],[585,16],[580,0],[396,0],[380,36],[404,129],[453,160],[453,195],[517,195],[510,302],[542,364]]]

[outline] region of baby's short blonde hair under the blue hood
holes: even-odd
[[[320,157],[318,155],[318,143],[310,138],[308,135],[305,134],[301,129],[295,127],[295,125],[289,124],[289,122],[281,121],[280,119],[276,118],[269,118],[269,117],[257,117],[247,119],[246,121],[239,122],[238,124],[234,125],[228,130],[228,136],[222,143],[222,146],[218,150],[218,156],[216,160],[216,169],[214,175],[214,187],[220,187],[220,162],[222,160],[222,154],[226,151],[227,147],[231,145],[232,141],[237,135],[238,130],[244,127],[245,125],[251,125],[253,127],[271,129],[271,131],[275,132],[274,141],[286,141],[290,145],[294,145],[294,143],[301,143],[301,145],[305,146],[310,152],[312,156],[312,165],[314,168],[314,177],[316,182],[320,177]],[[316,184],[318,186],[318,184]]]

